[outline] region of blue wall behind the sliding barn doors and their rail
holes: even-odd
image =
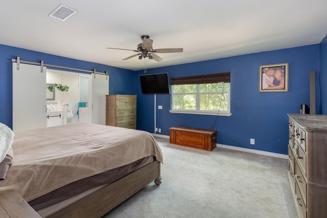
[[[109,73],[109,94],[134,94],[134,71],[0,44],[0,123],[12,128],[12,59]],[[48,67],[50,68],[50,67]],[[53,68],[54,69],[54,68]],[[69,71],[69,70],[66,70]],[[33,85],[33,84],[28,84]],[[22,87],[22,88],[28,88]]]

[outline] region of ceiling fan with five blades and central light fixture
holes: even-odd
[[[138,54],[129,56],[127,58],[124,58],[123,60],[128,60],[130,58],[138,56],[139,60],[142,60],[142,58],[149,58],[150,60],[153,59],[155,61],[162,61],[161,57],[156,55],[155,53],[175,53],[175,52],[183,52],[183,49],[153,49],[152,43],[153,40],[150,39],[150,36],[143,35],[141,36],[142,43],[139,43],[137,45],[137,50],[131,50],[131,49],[117,49],[117,50],[127,50],[127,51],[133,51],[137,52]],[[114,47],[107,47],[107,49],[116,49]]]

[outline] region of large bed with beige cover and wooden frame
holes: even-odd
[[[161,183],[162,153],[145,131],[78,123],[16,132],[11,148],[13,163],[0,180],[7,213],[19,207],[11,195],[41,217],[101,217]]]

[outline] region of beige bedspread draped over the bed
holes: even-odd
[[[12,148],[15,160],[0,191],[14,189],[27,202],[147,156],[162,163],[150,133],[86,123],[16,132]]]

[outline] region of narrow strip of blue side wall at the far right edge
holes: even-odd
[[[327,114],[327,35],[320,42],[321,111]]]

